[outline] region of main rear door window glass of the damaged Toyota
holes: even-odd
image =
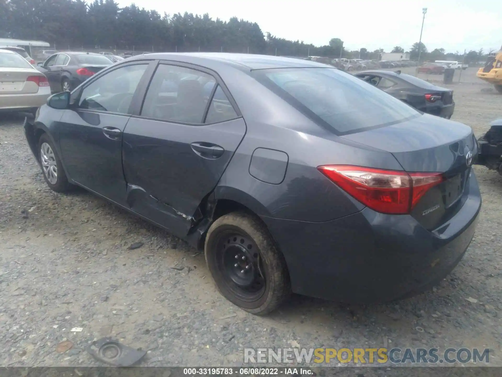
[[[147,91],[141,115],[164,121],[202,123],[213,76],[186,67],[160,64]]]

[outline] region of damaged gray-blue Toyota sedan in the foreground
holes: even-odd
[[[204,250],[254,314],[291,291],[422,292],[481,207],[470,127],[308,60],[136,56],[53,95],[25,131],[52,190],[82,186]]]

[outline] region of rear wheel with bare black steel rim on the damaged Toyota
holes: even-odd
[[[284,256],[254,216],[232,212],[218,218],[207,232],[204,249],[219,292],[243,310],[268,314],[291,294]]]

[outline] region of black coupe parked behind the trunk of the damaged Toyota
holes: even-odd
[[[401,71],[364,71],[357,77],[424,113],[450,119],[455,110],[453,90]]]

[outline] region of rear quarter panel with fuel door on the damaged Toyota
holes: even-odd
[[[317,166],[336,163],[403,170],[392,154],[337,137],[249,75],[242,76],[239,85],[229,89],[247,132],[215,189],[216,199],[236,201],[262,217],[324,222],[364,206]],[[257,148],[278,152],[261,153],[257,166],[252,163]],[[284,166],[286,155],[286,174],[280,177],[277,168]]]

